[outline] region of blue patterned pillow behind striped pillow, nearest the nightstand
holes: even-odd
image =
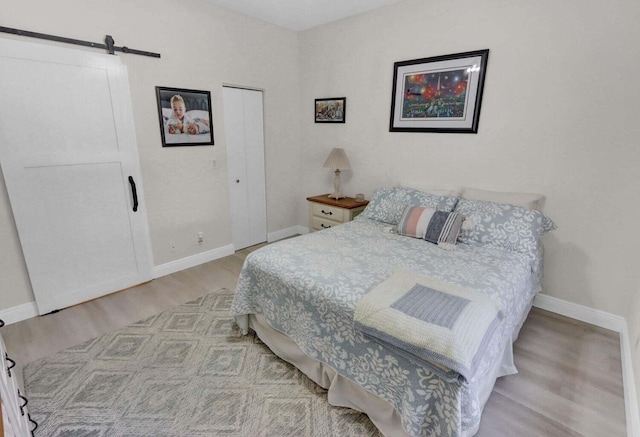
[[[407,206],[423,206],[450,212],[457,201],[457,197],[438,196],[413,188],[379,188],[361,215],[372,220],[397,225]]]

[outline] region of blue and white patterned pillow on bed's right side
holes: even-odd
[[[555,223],[540,211],[506,203],[461,198],[454,211],[464,215],[470,224],[463,226],[458,241],[512,252],[535,253],[538,238],[556,229]]]

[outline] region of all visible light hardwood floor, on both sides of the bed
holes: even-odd
[[[149,283],[2,328],[24,365],[193,300],[235,290],[257,247]],[[626,436],[617,333],[532,309],[515,343],[517,375],[500,378],[478,436]]]

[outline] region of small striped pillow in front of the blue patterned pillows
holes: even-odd
[[[453,250],[463,221],[464,216],[455,212],[407,206],[398,222],[398,233]]]

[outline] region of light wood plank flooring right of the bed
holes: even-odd
[[[615,332],[533,308],[478,436],[626,436]]]

